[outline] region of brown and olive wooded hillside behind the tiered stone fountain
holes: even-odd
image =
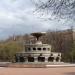
[[[72,29],[47,31],[40,40],[52,45],[52,51],[62,53],[62,61],[75,62],[75,42]],[[16,52],[24,49],[25,43],[35,43],[36,39],[29,34],[9,37],[0,42],[0,61],[14,61]]]

